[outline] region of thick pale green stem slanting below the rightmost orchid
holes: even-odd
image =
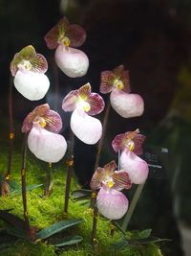
[[[139,184],[138,187],[137,187],[137,190],[134,194],[134,197],[132,199],[132,202],[130,204],[130,207],[129,207],[129,210],[127,211],[125,217],[124,217],[124,220],[122,222],[122,226],[121,226],[121,229],[125,232],[127,230],[127,226],[132,218],[132,215],[134,213],[134,210],[136,208],[136,205],[138,203],[138,198],[140,197],[141,195],[141,192],[143,190],[143,187],[144,187],[144,184]]]

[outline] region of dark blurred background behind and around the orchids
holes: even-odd
[[[168,160],[162,162],[165,174],[149,177],[131,227],[151,227],[156,236],[172,239],[163,249],[173,256],[183,255],[181,229],[191,226],[190,13],[191,1],[186,0],[0,0],[1,123],[8,116],[11,59],[29,44],[48,60],[51,88],[46,99],[38,102],[29,102],[13,89],[14,121],[20,126],[33,107],[48,102],[62,116],[62,133],[68,136],[70,114],[61,109],[66,93],[88,81],[98,92],[101,71],[119,64],[130,70],[132,92],[142,96],[145,111],[133,119],[123,119],[111,111],[101,163],[116,157],[111,147],[113,138],[136,128],[147,136],[145,149],[168,149]],[[56,68],[54,52],[46,47],[44,35],[63,15],[87,32],[80,49],[89,57],[90,68],[83,78],[67,78]],[[86,188],[95,154],[96,146],[75,139],[75,174]]]

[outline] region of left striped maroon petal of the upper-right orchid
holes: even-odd
[[[100,89],[99,91],[103,94],[109,93],[113,90],[115,80],[115,76],[112,71],[103,71],[101,72],[101,81],[100,81]]]

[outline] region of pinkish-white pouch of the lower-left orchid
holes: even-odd
[[[55,163],[64,156],[67,143],[62,135],[41,128],[38,123],[34,123],[29,133],[28,147],[38,159]]]

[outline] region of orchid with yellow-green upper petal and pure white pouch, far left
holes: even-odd
[[[15,54],[11,60],[11,75],[18,92],[30,101],[41,100],[50,86],[50,81],[44,74],[47,68],[46,58],[36,54],[32,45]]]

